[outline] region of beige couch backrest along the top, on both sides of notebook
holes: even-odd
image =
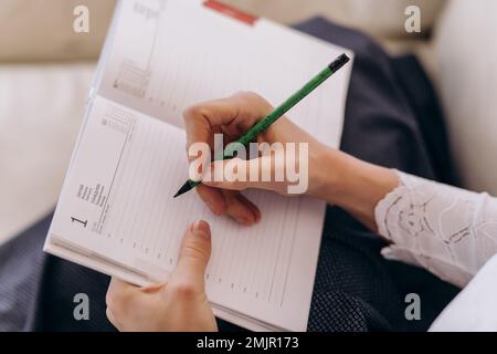
[[[116,0],[2,0],[0,61],[97,58]],[[125,0],[126,1],[126,0]],[[445,0],[221,0],[285,23],[324,15],[379,39],[409,38],[405,8],[420,6],[423,33],[432,28]],[[72,30],[76,6],[89,9],[91,32]],[[15,33],[15,35],[12,35]]]

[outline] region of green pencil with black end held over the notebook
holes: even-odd
[[[313,77],[304,87],[286,100],[279,107],[274,110],[268,116],[255,124],[244,136],[236,140],[242,145],[248,145],[253,142],[261,133],[266,131],[272,124],[285,115],[289,110],[295,107],[302,100],[307,97],[313,91],[319,87],[325,81],[327,81],[332,74],[339,71],[345,64],[347,64],[350,59],[346,54],[338,56],[331,64],[326,66],[319,74]],[[233,157],[235,153],[235,146],[232,145],[224,150],[224,155],[216,160],[229,159]],[[188,180],[180,190],[175,195],[175,198],[184,195],[197,186],[201,185],[201,181]]]

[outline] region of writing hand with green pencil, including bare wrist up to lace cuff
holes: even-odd
[[[187,147],[190,148],[194,143],[208,143],[213,148],[214,134],[223,134],[228,143],[236,140],[272,111],[271,104],[254,93],[240,93],[229,98],[195,105],[184,113]],[[377,230],[374,208],[398,186],[394,171],[329,148],[285,117],[258,136],[258,143],[282,143],[283,147],[272,150],[269,155],[250,160],[235,158],[215,162],[208,167],[209,169],[202,171],[202,186],[197,187],[197,191],[215,215],[228,215],[240,223],[253,225],[261,219],[261,212],[240,191],[257,188],[286,195],[292,181],[288,180],[286,173],[281,181],[275,179],[263,181],[261,178],[257,180],[246,178],[246,181],[212,181],[212,178],[204,178],[209,176],[207,173],[210,173],[210,177],[216,173],[223,175],[228,164],[235,163],[236,167],[242,167],[242,170],[246,171],[246,177],[251,177],[251,170],[254,169],[258,171],[258,177],[263,174],[274,177],[278,170],[281,173],[290,167],[293,170],[308,171],[305,176],[307,189],[302,194],[337,205],[371,230]],[[277,158],[285,155],[286,143],[307,143],[308,154],[304,155],[307,158],[303,160],[299,154],[295,159]],[[198,156],[189,157],[190,160],[198,158]]]

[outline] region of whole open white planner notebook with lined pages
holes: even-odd
[[[214,313],[250,330],[305,331],[325,204],[250,191],[263,220],[215,218],[188,178],[181,112],[255,91],[274,105],[347,50],[199,0],[126,0],[116,9],[45,251],[146,285],[175,268],[189,222],[211,223],[205,274]],[[289,114],[338,146],[350,67]]]

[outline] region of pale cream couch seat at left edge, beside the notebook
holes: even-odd
[[[94,64],[0,65],[0,243],[56,204]]]

